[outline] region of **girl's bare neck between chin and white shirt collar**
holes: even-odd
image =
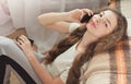
[[[90,33],[85,33],[84,36],[83,36],[83,38],[79,41],[79,44],[78,44],[78,46],[76,46],[76,50],[78,50],[79,52],[84,52],[85,49],[86,49],[86,47],[87,47],[91,43],[93,43],[93,41],[95,41],[95,40],[97,40],[96,37],[94,37],[94,36],[93,36],[92,34],[90,34]]]

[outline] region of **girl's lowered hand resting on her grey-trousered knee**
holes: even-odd
[[[33,53],[33,47],[31,45],[31,41],[27,39],[26,36],[21,35],[17,40],[15,40],[15,44],[23,50],[23,52],[27,56]]]

